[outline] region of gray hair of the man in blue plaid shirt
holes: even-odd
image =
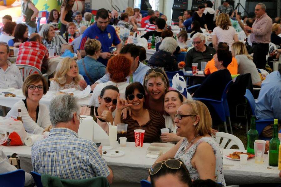
[[[50,121],[55,127],[60,122],[71,121],[74,112],[80,114],[80,106],[77,99],[64,94],[53,98],[49,105]]]

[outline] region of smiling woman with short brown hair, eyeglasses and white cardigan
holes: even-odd
[[[47,90],[48,83],[42,75],[28,76],[22,85],[22,93],[26,99],[15,103],[6,117],[17,119],[17,110],[21,109],[24,129],[30,134],[42,134],[51,125],[47,106],[39,104]]]

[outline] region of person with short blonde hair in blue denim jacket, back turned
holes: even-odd
[[[101,53],[101,42],[96,39],[88,40],[85,43],[85,52],[86,57],[77,61],[79,74],[86,75],[92,85],[106,72],[106,66],[97,61]]]

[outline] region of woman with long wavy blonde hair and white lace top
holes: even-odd
[[[60,91],[69,88],[83,90],[87,83],[79,74],[79,68],[73,58],[64,58],[58,65],[54,78],[50,79],[49,91]]]

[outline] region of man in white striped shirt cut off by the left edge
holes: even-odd
[[[6,42],[0,42],[0,88],[22,87],[22,76],[18,67],[8,61],[10,49]]]

